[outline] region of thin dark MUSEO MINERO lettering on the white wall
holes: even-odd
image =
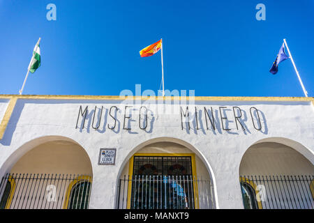
[[[146,106],[82,106],[78,108],[75,128],[93,128],[102,133],[105,130],[120,132],[144,131],[151,133],[154,123],[161,118],[177,119],[178,129],[186,132],[223,132],[267,131],[264,112],[256,107],[239,106],[179,106],[173,114],[156,115]],[[157,116],[159,120],[157,120]]]

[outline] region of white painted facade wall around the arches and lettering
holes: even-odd
[[[186,142],[191,151],[200,157],[207,170],[211,171],[211,178],[216,192],[217,208],[243,208],[241,190],[239,187],[239,166],[246,150],[260,140],[281,140],[283,144],[297,141],[296,149],[310,162],[314,163],[314,114],[311,102],[249,102],[249,101],[197,101],[197,109],[206,106],[213,107],[214,116],[219,116],[218,107],[227,107],[225,115],[229,119],[229,128],[224,131],[218,119],[216,130],[207,130],[204,122],[204,112],[199,114],[202,123],[198,123],[200,130],[195,129],[195,121],[191,121],[191,130],[181,130],[181,116],[177,114],[155,114],[149,116],[149,123],[154,126],[147,132],[140,130],[138,116],[130,121],[132,130],[123,130],[124,105],[119,101],[110,100],[35,100],[19,99],[11,116],[8,128],[0,141],[0,174],[10,171],[12,164],[32,146],[38,142],[50,140],[49,136],[66,137],[80,144],[91,160],[93,169],[93,187],[91,191],[90,208],[114,208],[117,189],[117,178],[121,173],[121,166],[126,164],[133,153],[140,149],[139,145],[146,142],[156,142],[158,139],[176,139]],[[100,128],[91,128],[92,113],[85,122],[86,128],[75,129],[80,105],[89,106],[89,111],[104,107]],[[114,131],[107,128],[113,125],[108,116],[111,106],[120,107],[117,114],[119,122]],[[244,110],[247,130],[237,130],[232,112],[232,106]],[[253,128],[250,107],[256,107],[262,113],[262,130]],[[193,106],[190,111],[193,112]],[[0,106],[3,114],[5,106]],[[99,110],[98,110],[99,112]],[[100,113],[98,113],[100,114]],[[191,114],[192,115],[192,114]],[[103,128],[105,126],[105,128]],[[186,126],[184,126],[186,127]],[[119,130],[118,130],[119,128]],[[48,138],[47,138],[48,137]],[[287,140],[290,139],[290,140]],[[98,165],[100,148],[117,148],[115,166]]]

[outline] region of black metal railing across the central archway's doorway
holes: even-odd
[[[191,175],[124,175],[117,191],[118,209],[214,208],[210,180]]]

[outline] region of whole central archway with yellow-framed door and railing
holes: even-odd
[[[117,178],[116,208],[216,208],[214,175],[203,155],[180,139],[136,146]]]

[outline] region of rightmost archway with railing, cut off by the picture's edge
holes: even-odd
[[[239,167],[244,208],[313,208],[313,156],[291,139],[262,139],[250,146]]]

